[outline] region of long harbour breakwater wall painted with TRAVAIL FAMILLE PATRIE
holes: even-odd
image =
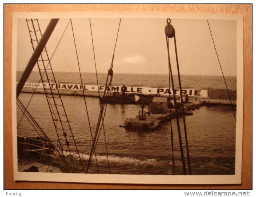
[[[47,85],[49,86],[49,85]],[[93,84],[75,84],[75,83],[57,83],[50,84],[48,89],[51,88],[53,93],[57,93],[57,88],[61,95],[73,95],[73,96],[91,96],[99,97],[103,95],[104,90],[106,89],[105,85],[93,85]],[[99,90],[99,91],[98,91]],[[150,87],[150,86],[122,86],[122,85],[113,85],[111,87],[111,92],[116,93],[133,93],[133,94],[145,94],[145,95],[158,95],[168,97],[169,93],[171,95],[180,95],[179,88],[174,90],[169,89],[168,87]],[[26,82],[22,92],[25,93],[45,93],[43,84],[38,82]],[[182,88],[182,93],[189,95],[189,98],[200,98],[200,99],[216,99],[216,100],[229,100],[228,93],[231,100],[236,100],[237,90],[227,90],[226,89],[217,89],[217,88]]]

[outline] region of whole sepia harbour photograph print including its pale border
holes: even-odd
[[[16,12],[14,180],[241,181],[242,15]]]

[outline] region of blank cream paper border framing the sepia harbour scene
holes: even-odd
[[[106,175],[71,173],[18,172],[16,122],[16,53],[17,19],[19,18],[171,18],[171,19],[225,19],[237,20],[237,127],[235,175]],[[239,184],[242,170],[243,132],[243,16],[238,14],[202,14],[177,12],[13,12],[12,31],[12,142],[14,180],[82,183],[133,184]]]

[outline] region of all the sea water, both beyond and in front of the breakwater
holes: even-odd
[[[105,84],[107,73],[81,73],[84,84]],[[21,72],[17,72],[17,81]],[[27,81],[38,82],[40,75],[32,72]],[[56,72],[59,83],[81,83],[79,73]],[[225,76],[228,89],[236,90],[236,77]],[[174,76],[175,87],[178,77]],[[225,89],[223,76],[182,75],[182,87]],[[168,87],[168,75],[114,73],[112,85],[142,85]],[[21,93],[19,99],[45,131],[57,143],[49,107],[43,94]],[[32,97],[32,99],[31,99]],[[100,113],[97,97],[61,95],[71,129],[83,162],[88,162],[92,147],[92,133],[95,132]],[[29,102],[29,100],[31,101]],[[86,109],[87,107],[87,109]],[[183,175],[180,144],[176,119],[165,122],[156,131],[126,130],[122,125],[127,118],[135,118],[139,105],[107,104],[104,118],[104,132],[101,131],[89,173],[130,175]],[[88,112],[88,113],[87,113]],[[192,175],[235,174],[236,122],[231,105],[201,106],[194,115],[185,117],[189,158]],[[183,120],[180,119],[186,171],[189,172]],[[90,125],[89,125],[90,122]],[[17,107],[17,135],[36,137],[30,125]],[[91,129],[90,129],[91,127]],[[173,148],[171,146],[171,127]],[[106,138],[106,141],[105,141]],[[173,159],[174,158],[174,159]],[[79,162],[78,162],[79,163]],[[79,165],[78,165],[79,166]],[[175,169],[173,169],[175,166]]]

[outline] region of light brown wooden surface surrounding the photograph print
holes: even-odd
[[[4,189],[252,189],[252,4],[4,4]],[[241,185],[125,185],[15,182],[12,164],[12,12],[142,11],[244,15],[244,133]]]

